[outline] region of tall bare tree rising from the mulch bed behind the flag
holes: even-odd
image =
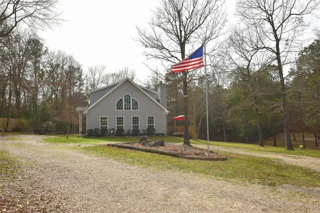
[[[150,31],[136,27],[136,40],[147,48],[143,54],[147,58],[159,59],[168,66],[184,59],[186,47],[194,50],[220,34],[226,22],[223,4],[223,0],[162,0],[149,21]],[[185,145],[190,145],[188,73],[177,73],[183,82]]]

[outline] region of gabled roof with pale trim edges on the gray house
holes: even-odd
[[[160,106],[166,113],[169,112],[166,108],[164,108],[158,101],[156,101],[154,98],[152,98],[148,93],[146,93],[143,89],[147,89],[149,91],[152,91],[148,88],[143,87],[143,89],[141,88],[141,86],[137,85],[136,83],[134,83],[130,78],[126,77],[125,79],[123,79],[120,82],[117,83],[113,83],[111,85],[107,85],[98,89],[95,89],[93,91],[89,91],[87,92],[87,94],[90,94],[94,91],[98,91],[100,89],[106,88],[106,87],[111,87],[113,86],[113,88],[111,88],[108,92],[106,92],[102,97],[100,97],[97,101],[95,101],[92,105],[90,105],[88,108],[85,109],[84,112],[87,112],[90,108],[92,108],[95,104],[97,104],[98,102],[100,102],[103,98],[105,98],[109,93],[111,93],[112,91],[114,91],[117,87],[121,86],[125,81],[128,81],[130,83],[132,83],[132,85],[134,85],[139,91],[141,91],[145,96],[147,96],[149,99],[151,99],[155,104],[157,104],[158,106]],[[152,91],[155,92],[155,91]],[[156,93],[156,92],[155,92]]]

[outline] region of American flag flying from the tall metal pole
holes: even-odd
[[[196,69],[203,66],[202,58],[203,46],[200,46],[197,50],[192,52],[188,57],[182,61],[171,66],[171,72],[180,72],[190,69]]]

